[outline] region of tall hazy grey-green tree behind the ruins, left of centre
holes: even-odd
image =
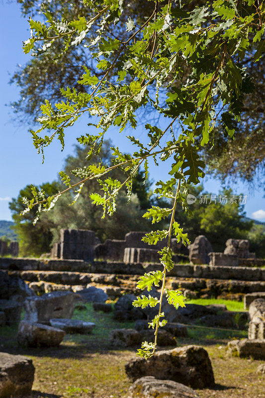
[[[98,155],[92,155],[87,159],[89,148],[82,148],[80,145],[75,147],[73,155],[68,156],[65,162],[64,171],[70,173],[71,170],[87,167],[89,164],[98,163],[108,167],[111,162],[112,153],[110,151],[111,142],[103,141]],[[124,181],[126,176],[121,170],[114,169],[110,174],[113,179]],[[78,182],[78,178],[73,178],[72,182]],[[60,236],[61,228],[81,228],[92,229],[103,242],[106,238],[124,239],[124,235],[129,231],[149,231],[150,223],[146,223],[142,215],[144,210],[150,207],[154,200],[150,198],[151,182],[147,179],[144,183],[143,172],[138,172],[132,183],[132,197],[128,202],[126,191],[121,190],[117,199],[117,209],[112,216],[106,215],[102,218],[102,211],[95,204],[91,203],[89,196],[94,193],[100,193],[100,184],[97,181],[91,181],[84,186],[80,193],[79,200],[72,206],[68,206],[74,199],[71,192],[58,200],[57,205],[48,213],[53,228],[53,242],[57,242]]]

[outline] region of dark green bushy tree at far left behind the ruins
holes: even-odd
[[[18,197],[12,198],[9,202],[9,209],[12,213],[14,225],[12,229],[17,235],[19,242],[19,255],[20,256],[39,256],[42,253],[47,253],[50,250],[52,242],[51,228],[54,226],[52,221],[48,218],[46,213],[41,214],[39,222],[34,226],[33,221],[36,217],[36,209],[33,208],[29,212],[20,216],[21,211],[24,209],[22,198],[27,200],[33,199],[31,192],[32,186],[27,185],[20,190]],[[60,190],[60,184],[56,181],[42,184],[38,187],[46,193],[46,196],[55,195]]]

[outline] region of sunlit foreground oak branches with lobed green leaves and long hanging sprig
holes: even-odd
[[[219,134],[230,139],[237,135],[244,99],[255,89],[245,63],[251,55],[253,63],[260,65],[264,54],[265,10],[262,2],[254,0],[215,0],[197,7],[189,0],[150,1],[151,10],[146,9],[143,21],[138,23],[128,18],[124,23],[122,0],[84,0],[83,3],[89,12],[73,20],[54,18],[48,9],[44,10],[44,23],[30,19],[32,36],[24,42],[23,49],[35,56],[56,48],[65,54],[75,46],[82,48],[88,32],[96,32],[93,45],[97,49],[92,58],[98,73],[102,74],[97,76],[85,66],[78,83],[86,86],[87,92],[78,93],[65,87],[61,90],[63,101],[54,105],[46,100],[40,106],[40,128],[30,132],[33,144],[43,154],[55,138],[64,147],[67,127],[81,115],[88,114],[93,117],[89,134],[78,137],[78,142],[89,145],[89,159],[98,153],[111,126],[120,132],[126,126],[136,128],[139,112],[147,104],[169,118],[163,130],[146,124],[146,135],[150,139],[147,145],[140,141],[137,131],[128,136],[136,148],[133,154],[112,148],[111,166],[106,168],[99,163],[72,170],[78,183],[73,182],[72,175],[60,172],[66,186],[64,193],[75,189],[76,199],[86,183],[97,181],[100,194],[94,192],[90,199],[102,206],[105,216],[115,212],[116,199],[125,187],[128,197],[131,196],[137,170],[144,167],[147,178],[150,158],[157,165],[166,159],[172,161],[170,179],[158,181],[154,191],[162,198],[173,199],[172,207],[152,206],[144,214],[152,223],[170,220],[167,229],[151,231],[143,238],[151,245],[165,238],[168,241],[160,251],[163,271],[145,274],[138,284],[138,288],[144,290],[162,281],[160,298],[142,295],[134,301],[135,306],[158,308],[157,316],[150,322],[155,329],[154,341],[144,342],[138,351],[139,355],[148,357],[156,349],[159,327],[167,322],[161,312],[164,293],[176,308],[185,305],[181,292],[165,287],[167,271],[174,268],[170,248],[172,233],[178,241],[189,243],[187,233],[175,221],[177,203],[189,211],[185,193],[190,184],[197,185],[204,177],[203,147],[208,143],[214,145]],[[109,34],[115,26],[121,29],[118,35]],[[166,94],[166,103],[160,101],[161,91]],[[222,130],[215,128],[218,123]],[[109,177],[107,174],[116,168],[128,177],[125,180]],[[35,201],[25,200],[25,211],[37,206],[37,216],[53,208],[63,195],[60,192],[44,198],[36,188],[32,193]]]

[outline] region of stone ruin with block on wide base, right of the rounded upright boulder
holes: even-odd
[[[258,265],[255,253],[249,252],[249,241],[247,239],[228,239],[224,253],[209,253],[210,265],[212,266],[248,266]]]

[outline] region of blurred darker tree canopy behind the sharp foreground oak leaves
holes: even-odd
[[[41,13],[39,1],[17,0],[17,2],[21,6],[23,16],[39,17]],[[200,1],[182,3],[183,9],[189,10],[199,5]],[[88,17],[91,12],[82,0],[43,1],[43,4],[54,18],[59,19],[73,20],[77,19],[78,15]],[[125,1],[121,15],[122,23],[124,24],[130,17],[141,24],[151,8],[152,2],[148,0]],[[128,32],[124,32],[120,24],[109,25],[108,34],[112,37],[128,36]],[[17,67],[10,83],[15,83],[20,88],[20,95],[18,100],[14,100],[11,105],[20,120],[24,122],[36,118],[39,104],[46,98],[49,98],[53,104],[61,100],[61,87],[69,86],[76,88],[78,92],[87,92],[87,87],[78,83],[84,65],[95,76],[103,76],[103,72],[97,70],[91,56],[91,53],[95,51],[94,46],[91,45],[94,38],[95,31],[91,27],[84,37],[82,46],[70,46],[67,52],[62,53],[60,43],[57,42],[48,51],[27,62],[25,66]],[[252,52],[246,52],[243,65],[249,76],[253,78],[255,89],[244,97],[241,120],[238,121],[238,134],[233,140],[219,134],[216,136],[213,147],[210,143],[202,149],[207,172],[227,184],[240,178],[248,183],[255,182],[256,185],[265,186],[264,63],[264,54],[257,64],[253,60]],[[216,125],[222,128],[221,121],[217,120]]]

